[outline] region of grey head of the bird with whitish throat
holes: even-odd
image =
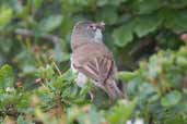
[[[78,45],[87,41],[102,42],[103,29],[104,23],[94,23],[92,21],[78,22],[73,27],[73,32],[71,35],[71,45]]]

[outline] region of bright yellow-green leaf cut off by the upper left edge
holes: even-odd
[[[0,29],[2,29],[7,24],[10,23],[12,18],[12,9],[10,8],[1,8],[0,9]]]

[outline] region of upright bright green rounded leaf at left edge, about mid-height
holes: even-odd
[[[13,71],[8,64],[0,69],[0,88],[13,87]]]

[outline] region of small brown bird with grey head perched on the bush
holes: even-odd
[[[71,70],[78,74],[74,79],[83,87],[87,79],[104,90],[112,100],[122,98],[117,87],[115,74],[117,66],[113,53],[103,42],[105,24],[92,21],[75,23],[71,34]]]

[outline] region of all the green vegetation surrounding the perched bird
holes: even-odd
[[[70,35],[80,20],[106,23],[125,99],[73,83]],[[186,0],[1,0],[0,123],[186,124],[185,32]]]

